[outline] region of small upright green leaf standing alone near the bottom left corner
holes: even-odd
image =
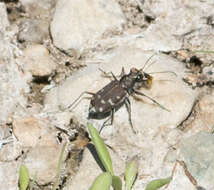
[[[20,190],[26,190],[30,181],[29,172],[25,165],[21,165],[19,170]]]

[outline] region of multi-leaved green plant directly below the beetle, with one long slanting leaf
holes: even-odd
[[[98,131],[93,127],[91,123],[88,123],[89,133],[91,135],[92,142],[94,143],[95,149],[101,160],[106,172],[100,174],[93,182],[89,190],[109,190],[110,186],[114,190],[122,190],[122,181],[120,177],[115,176],[112,167],[111,156],[108,149],[101,139]],[[125,169],[125,182],[126,190],[131,190],[138,174],[137,163],[132,160],[126,165]],[[156,179],[147,184],[145,190],[157,190],[162,186],[168,184],[172,180],[172,177],[165,179]]]

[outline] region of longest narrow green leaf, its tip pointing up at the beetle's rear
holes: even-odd
[[[98,131],[93,127],[93,125],[91,123],[88,123],[88,129],[89,129],[89,133],[91,135],[91,139],[96,148],[97,154],[98,154],[103,166],[105,167],[106,171],[110,172],[111,175],[113,176],[114,172],[113,172],[113,167],[112,167],[112,160],[111,160],[110,154],[106,148],[105,143],[101,139]]]

